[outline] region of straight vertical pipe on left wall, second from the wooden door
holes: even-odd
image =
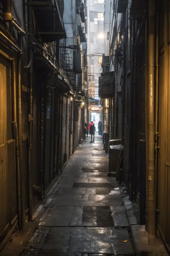
[[[23,145],[22,145],[22,110],[21,110],[21,58],[18,63],[18,137],[19,137],[19,160],[20,160],[20,180],[21,180],[21,214],[22,214],[22,224],[23,229],[25,221],[25,186],[24,186],[24,172],[23,172]]]

